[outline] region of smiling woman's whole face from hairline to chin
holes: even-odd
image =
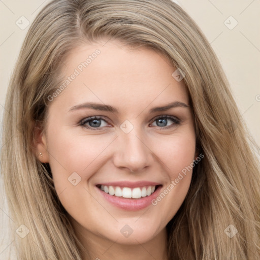
[[[41,160],[75,229],[145,243],[165,230],[191,181],[182,172],[196,158],[184,82],[155,51],[112,40],[74,49],[66,65]]]

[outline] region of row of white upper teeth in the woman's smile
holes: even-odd
[[[142,197],[150,196],[154,192],[155,186],[145,186],[131,189],[129,187],[121,188],[118,186],[113,187],[101,185],[100,189],[111,196],[139,199]]]

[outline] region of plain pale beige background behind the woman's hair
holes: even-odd
[[[16,21],[20,22],[19,26],[24,25],[25,19],[20,18],[24,16],[31,23],[48,2],[0,1],[1,127],[8,81],[29,27],[21,29],[16,25]],[[255,141],[260,145],[260,1],[180,0],[178,3],[199,24],[211,43],[231,83],[241,115]],[[230,16],[233,18],[229,18]],[[231,29],[237,22],[237,26]],[[1,141],[0,148],[2,145]],[[6,223],[9,217],[2,186],[0,187],[0,258],[7,259],[6,254],[10,248],[8,245],[12,241],[7,239]],[[17,223],[17,228],[19,225],[20,223]],[[3,238],[5,239],[2,242]]]

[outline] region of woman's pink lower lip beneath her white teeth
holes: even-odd
[[[163,186],[159,186],[150,196],[142,197],[140,199],[124,199],[116,196],[111,196],[105,191],[102,191],[100,188],[96,188],[101,192],[102,196],[112,205],[123,210],[137,211],[151,205],[152,200],[156,199],[162,187]]]

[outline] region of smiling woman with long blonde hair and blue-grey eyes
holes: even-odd
[[[6,108],[19,259],[259,258],[252,141],[213,50],[172,1],[51,2]]]

